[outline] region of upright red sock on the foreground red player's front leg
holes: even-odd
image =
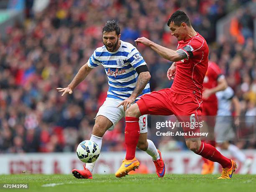
[[[136,146],[140,137],[139,119],[136,117],[125,117],[125,145],[126,145],[126,160],[131,160],[135,157]]]

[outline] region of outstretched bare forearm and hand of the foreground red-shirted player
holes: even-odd
[[[187,54],[185,51],[182,51],[182,50],[174,51],[172,49],[158,45],[153,41],[148,40],[145,37],[138,38],[135,40],[135,42],[143,43],[144,45],[149,46],[151,49],[156,51],[156,53],[158,53],[161,57],[169,61],[180,61],[182,59],[187,59]]]

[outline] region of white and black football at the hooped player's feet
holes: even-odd
[[[99,156],[100,148],[93,141],[85,140],[77,146],[77,157],[84,163],[95,162]]]

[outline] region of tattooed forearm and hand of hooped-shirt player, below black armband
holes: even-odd
[[[141,72],[138,76],[138,80],[136,83],[136,87],[133,90],[133,92],[131,93],[131,96],[127,99],[125,99],[124,101],[122,101],[119,105],[123,105],[123,109],[126,111],[126,109],[133,104],[133,102],[135,101],[135,99],[142,93],[143,89],[145,88],[145,86],[147,85],[148,81],[150,80],[151,76],[150,73],[148,71],[145,72]]]

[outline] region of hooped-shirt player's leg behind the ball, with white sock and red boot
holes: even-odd
[[[107,117],[102,115],[96,117],[90,140],[98,144],[100,149],[102,144],[102,136],[112,125],[113,123]],[[92,171],[95,163],[96,161],[92,163],[87,163],[84,166],[84,170],[73,169],[72,173],[74,177],[77,177],[79,179],[92,179]]]

